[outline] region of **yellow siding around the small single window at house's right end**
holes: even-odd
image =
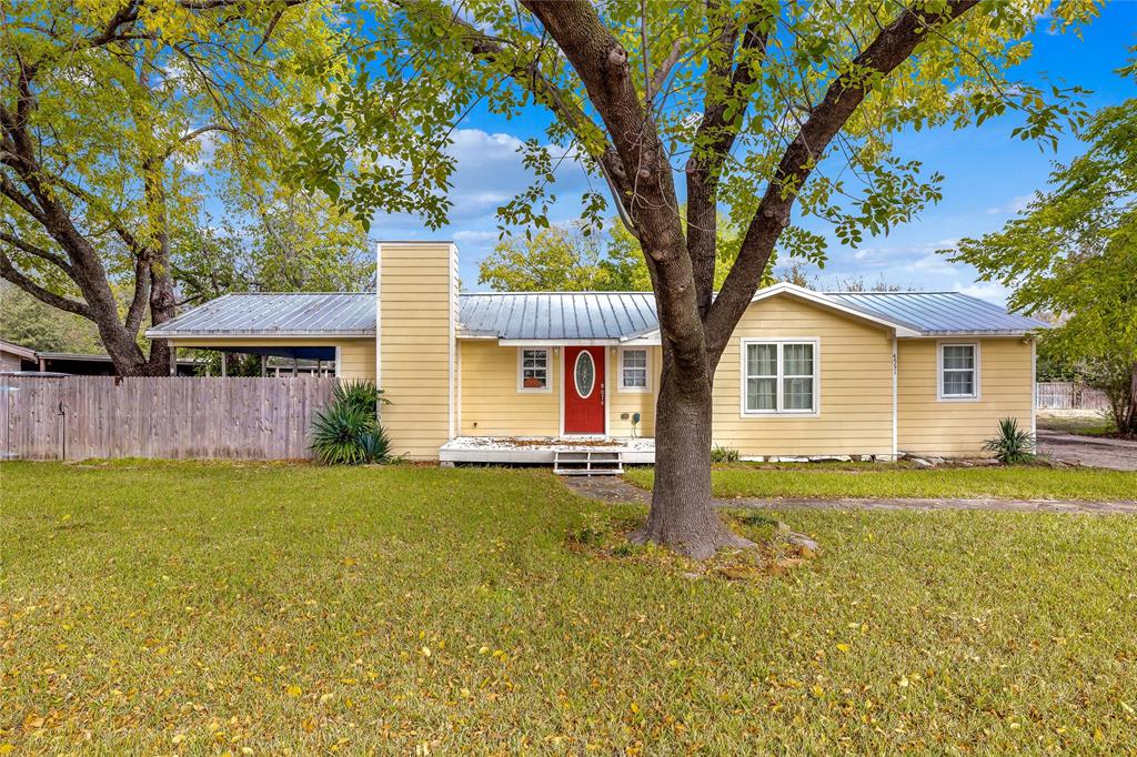
[[[904,452],[945,457],[982,455],[999,418],[1016,417],[1030,429],[1034,366],[1030,342],[1021,338],[952,339],[979,343],[979,399],[939,400],[933,339],[901,340],[897,389],[898,447]]]

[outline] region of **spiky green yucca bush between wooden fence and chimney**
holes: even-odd
[[[379,423],[382,390],[370,381],[335,386],[332,404],[313,422],[312,451],[324,465],[389,463],[391,441]]]

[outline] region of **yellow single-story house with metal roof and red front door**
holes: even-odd
[[[650,292],[459,294],[457,249],[425,242],[381,243],[377,281],[377,297],[227,294],[147,335],[375,380],[413,459],[543,461],[587,438],[650,459]],[[955,292],[765,288],[715,374],[714,441],[748,458],[980,455],[999,418],[1034,427],[1043,326]]]

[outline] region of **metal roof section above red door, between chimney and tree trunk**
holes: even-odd
[[[459,301],[467,334],[505,340],[620,339],[658,326],[652,292],[463,294]]]

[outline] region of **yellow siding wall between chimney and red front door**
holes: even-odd
[[[517,391],[517,348],[463,340],[462,433],[468,436],[556,436],[561,431],[561,350],[551,349],[551,391]]]

